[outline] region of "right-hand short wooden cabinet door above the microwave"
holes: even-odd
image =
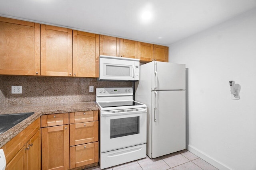
[[[121,57],[128,57],[138,59],[138,41],[129,39],[120,39],[120,55]]]

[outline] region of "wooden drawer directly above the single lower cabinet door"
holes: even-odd
[[[68,124],[68,113],[58,113],[41,116],[41,127],[50,127]]]

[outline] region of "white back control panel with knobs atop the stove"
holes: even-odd
[[[96,88],[96,96],[130,96],[133,95],[131,87]]]

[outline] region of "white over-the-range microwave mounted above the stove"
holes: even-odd
[[[140,79],[139,59],[100,55],[99,63],[97,80],[137,81]]]

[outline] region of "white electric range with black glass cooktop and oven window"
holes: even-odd
[[[132,88],[96,88],[101,169],[146,157],[147,108],[132,97]]]

